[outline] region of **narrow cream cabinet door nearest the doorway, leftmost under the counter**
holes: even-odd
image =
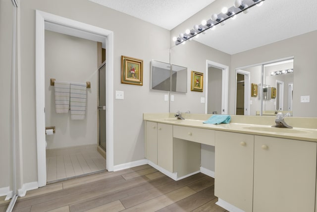
[[[146,122],[146,157],[158,164],[158,124]]]

